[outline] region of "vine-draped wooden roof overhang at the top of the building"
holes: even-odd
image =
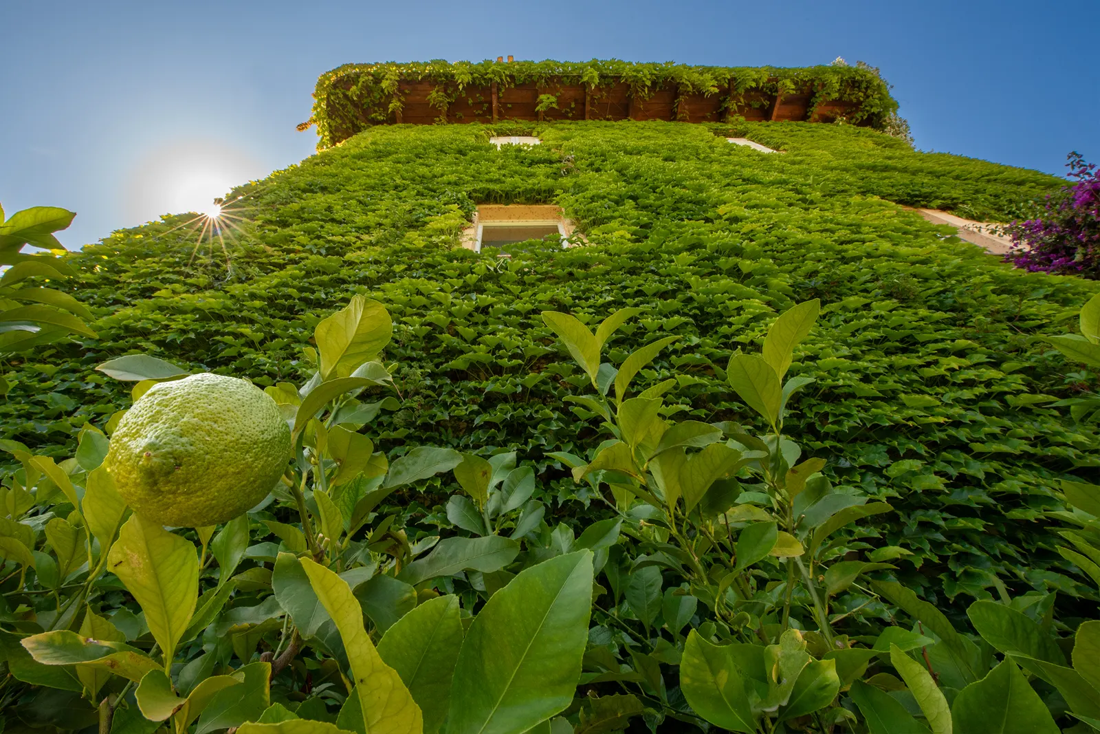
[[[882,129],[898,102],[867,66],[591,62],[344,64],[317,80],[319,149],[387,122],[836,120]]]

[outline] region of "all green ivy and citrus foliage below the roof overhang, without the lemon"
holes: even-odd
[[[997,211],[1046,179],[811,128],[749,128],[778,156],[719,127],[376,129],[241,189],[230,275],[172,221],[73,255],[99,338],[8,373],[6,731],[1100,720],[1096,435],[1050,405],[1093,377],[1047,341],[1096,286],[865,196],[999,173]],[[554,197],[592,245],[452,249],[459,191]],[[111,429],[209,370],[265,386],[295,457],[220,528],[148,527]]]

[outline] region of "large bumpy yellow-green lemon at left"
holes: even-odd
[[[119,421],[105,464],[134,512],[204,527],[254,507],[278,481],[290,428],[250,382],[194,374],[162,382]]]

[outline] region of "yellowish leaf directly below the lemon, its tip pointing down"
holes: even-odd
[[[131,515],[111,547],[108,567],[138,600],[153,638],[170,662],[198,600],[195,546],[140,515]]]

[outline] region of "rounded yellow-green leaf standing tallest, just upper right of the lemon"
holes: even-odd
[[[340,366],[350,372],[364,362],[375,361],[389,343],[393,329],[385,306],[361,295],[352,296],[346,307],[322,319],[314,331],[321,379],[340,376],[337,375]]]

